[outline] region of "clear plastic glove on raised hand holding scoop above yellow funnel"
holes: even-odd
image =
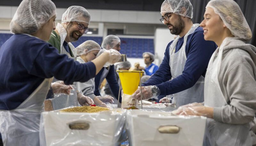
[[[108,67],[110,65],[113,65],[114,63],[118,62],[121,59],[121,54],[116,51],[115,49],[101,49],[98,53],[97,57],[100,56],[102,53],[107,52],[109,54],[109,60],[104,65],[104,67]]]

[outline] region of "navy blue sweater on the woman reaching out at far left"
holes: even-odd
[[[0,109],[17,108],[44,81],[72,84],[95,77],[94,63],[80,64],[36,37],[14,34],[0,48]]]

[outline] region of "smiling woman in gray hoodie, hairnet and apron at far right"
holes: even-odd
[[[204,39],[218,45],[205,75],[204,106],[185,105],[175,113],[208,117],[211,145],[255,145],[256,47],[244,43],[251,29],[233,0],[209,1],[200,26]]]

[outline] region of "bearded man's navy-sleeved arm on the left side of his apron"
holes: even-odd
[[[146,81],[145,83],[141,84],[141,86],[149,86],[149,85],[157,85],[163,82],[166,82],[171,79],[171,69],[169,65],[170,55],[169,55],[169,46],[171,45],[172,41],[167,45],[164,59],[160,64],[159,68],[156,72]]]

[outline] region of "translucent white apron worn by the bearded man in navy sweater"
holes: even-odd
[[[187,60],[185,47],[186,42],[189,34],[192,34],[195,32],[196,28],[199,26],[199,24],[193,24],[193,26],[190,28],[188,33],[184,36],[184,43],[180,50],[175,53],[175,47],[179,40],[179,36],[173,40],[172,44],[170,45],[170,68],[171,68],[171,74],[172,78],[176,78],[180,76],[184,70],[185,63]],[[193,102],[203,102],[204,101],[204,77],[200,76],[197,80],[196,84],[184,91],[180,91],[178,93],[174,94],[174,100],[172,103],[175,103],[177,107],[186,105],[188,103]]]

